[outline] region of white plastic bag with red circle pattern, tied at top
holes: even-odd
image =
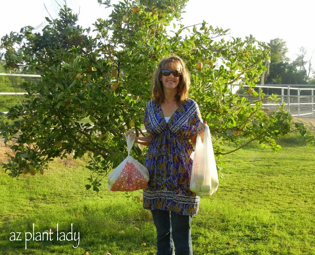
[[[147,188],[148,169],[130,156],[134,140],[126,136],[128,156],[108,175],[108,189],[111,191],[136,191]]]

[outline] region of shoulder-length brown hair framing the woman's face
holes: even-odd
[[[188,95],[189,92],[189,85],[190,85],[190,77],[189,77],[189,71],[186,68],[185,62],[176,55],[171,55],[170,57],[163,58],[160,63],[158,64],[158,68],[155,71],[155,74],[153,76],[153,88],[152,88],[152,96],[156,100],[156,103],[158,105],[161,105],[165,100],[165,95],[163,91],[163,86],[161,85],[161,71],[165,67],[167,67],[168,64],[178,62],[181,65],[181,76],[180,81],[177,86],[177,94],[175,96],[175,100],[177,103],[182,103]]]

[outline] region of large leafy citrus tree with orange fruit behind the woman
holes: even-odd
[[[252,36],[227,40],[227,30],[205,22],[185,27],[187,1],[98,0],[112,12],[95,21],[93,32],[78,26],[78,16],[63,6],[58,19],[46,18],[41,32],[24,27],[2,37],[6,68],[41,75],[24,85],[25,102],[12,107],[11,121],[0,126],[5,141],[15,141],[15,154],[3,165],[9,175],[43,173],[56,157],[89,157],[86,187],[98,191],[102,178],[126,157],[126,130],[143,132],[152,74],[170,54],[187,62],[189,96],[212,131],[218,166],[221,155],[230,153],[227,141],[238,148],[258,141],[277,149],[275,137],[291,130],[291,116],[284,108],[264,112],[262,94],[252,90],[265,70],[267,46]],[[250,86],[251,103],[232,93],[235,83]],[[134,146],[132,153],[141,161],[145,149]]]

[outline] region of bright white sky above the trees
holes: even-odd
[[[112,0],[117,2],[118,0]],[[74,13],[79,13],[79,25],[93,28],[97,18],[106,18],[108,9],[97,0],[66,0]],[[22,27],[42,27],[45,17],[58,18],[64,0],[2,0],[0,38]],[[313,0],[189,0],[183,15],[185,25],[205,20],[213,27],[230,29],[230,36],[253,35],[270,42],[281,38],[288,48],[287,57],[294,60],[304,47],[309,60],[315,57]]]

